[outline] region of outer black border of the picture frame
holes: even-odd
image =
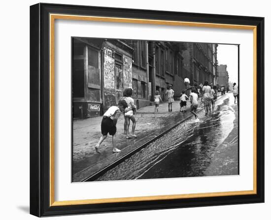
[[[250,195],[50,206],[49,14],[257,26],[257,193]],[[30,7],[30,213],[38,217],[264,202],[264,18],[38,3]]]

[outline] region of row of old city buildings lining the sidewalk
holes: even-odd
[[[150,105],[155,91],[166,100],[169,85],[179,97],[185,89],[185,77],[191,85],[205,80],[217,85],[224,74],[219,75],[217,47],[209,43],[73,37],[73,118],[100,116],[116,105],[126,88],[133,88],[140,108]]]

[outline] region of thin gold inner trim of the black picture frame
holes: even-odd
[[[55,201],[55,189],[54,189],[54,186],[55,186],[55,180],[54,180],[54,74],[55,74],[54,72],[54,64],[55,64],[54,63],[54,31],[55,29],[54,28],[55,28],[56,19],[253,30],[253,86],[254,86],[253,190]],[[131,202],[131,201],[133,202],[134,201],[152,201],[152,200],[162,200],[162,199],[165,200],[165,199],[180,199],[180,198],[196,198],[196,197],[199,198],[199,197],[213,197],[213,196],[256,194],[257,193],[257,179],[256,179],[257,177],[257,83],[256,82],[257,82],[257,26],[50,14],[50,164],[49,164],[50,166],[50,206],[83,205],[83,204],[99,204],[99,203],[114,203],[114,202]]]

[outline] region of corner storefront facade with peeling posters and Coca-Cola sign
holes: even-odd
[[[119,40],[72,38],[73,118],[100,116],[132,87],[133,48]]]

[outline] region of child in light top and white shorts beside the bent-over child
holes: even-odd
[[[124,118],[126,120],[126,138],[130,139],[133,137],[137,137],[135,135],[135,125],[136,125],[136,121],[135,121],[135,113],[136,113],[136,107],[135,107],[135,101],[134,99],[131,97],[133,94],[133,90],[131,88],[126,90],[126,97],[125,97],[125,101],[127,103],[127,108],[124,110]],[[132,134],[129,134],[129,126],[130,126],[130,119],[133,122],[133,126],[132,126]]]

